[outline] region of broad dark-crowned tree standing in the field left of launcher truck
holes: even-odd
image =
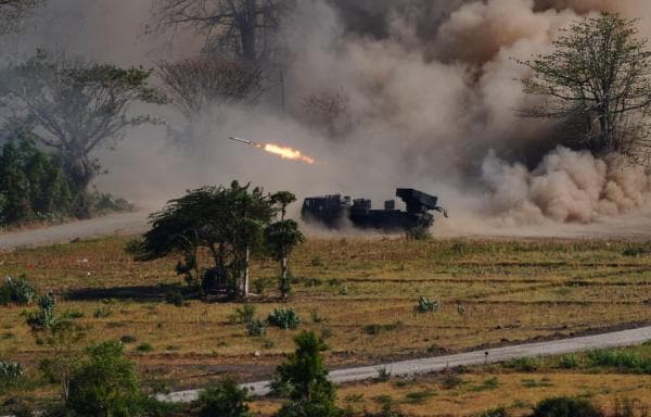
[[[190,283],[210,290],[213,281],[226,280],[231,295],[245,295],[251,252],[261,249],[264,227],[273,215],[270,195],[260,188],[238,181],[230,188],[200,188],[152,214],[151,230],[132,251],[139,261],[182,254],[177,271]],[[213,267],[200,264],[201,248],[208,250]]]

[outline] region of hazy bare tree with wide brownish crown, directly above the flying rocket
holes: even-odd
[[[210,105],[255,102],[261,91],[261,71],[254,64],[210,56],[161,62],[158,75],[173,104],[192,121]]]

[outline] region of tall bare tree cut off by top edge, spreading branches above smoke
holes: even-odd
[[[256,62],[267,58],[272,37],[293,0],[154,0],[150,28],[191,28],[206,36],[206,50]]]

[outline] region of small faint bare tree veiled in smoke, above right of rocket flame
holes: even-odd
[[[303,100],[308,123],[326,129],[331,138],[341,138],[353,127],[350,98],[343,91],[322,89]]]

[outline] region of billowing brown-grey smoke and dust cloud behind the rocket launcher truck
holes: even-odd
[[[150,11],[142,3],[51,2],[42,15],[67,13],[82,24],[66,22],[63,35],[37,28],[24,46],[69,40],[72,52],[145,65],[199,50],[192,37],[177,39],[171,51],[144,37]],[[599,160],[557,148],[552,125],[515,112],[531,100],[515,80],[525,75],[516,60],[548,52],[559,28],[602,11],[641,17],[641,34],[651,35],[651,7],[643,0],[298,1],[281,36],[290,56],[284,110],[271,84],[256,109],[208,112],[204,137],[184,152],[167,144],[164,129],[140,128],[104,156],[112,174],[103,185],[156,204],[184,188],[231,178],[299,197],[342,191],[379,198],[414,186],[438,193],[452,208],[452,223],[502,226],[638,212],[650,191],[641,168],[614,155]],[[304,99],[323,89],[349,98],[354,124],[337,141],[302,118]],[[225,142],[232,134],[302,148],[323,163],[277,161]]]

